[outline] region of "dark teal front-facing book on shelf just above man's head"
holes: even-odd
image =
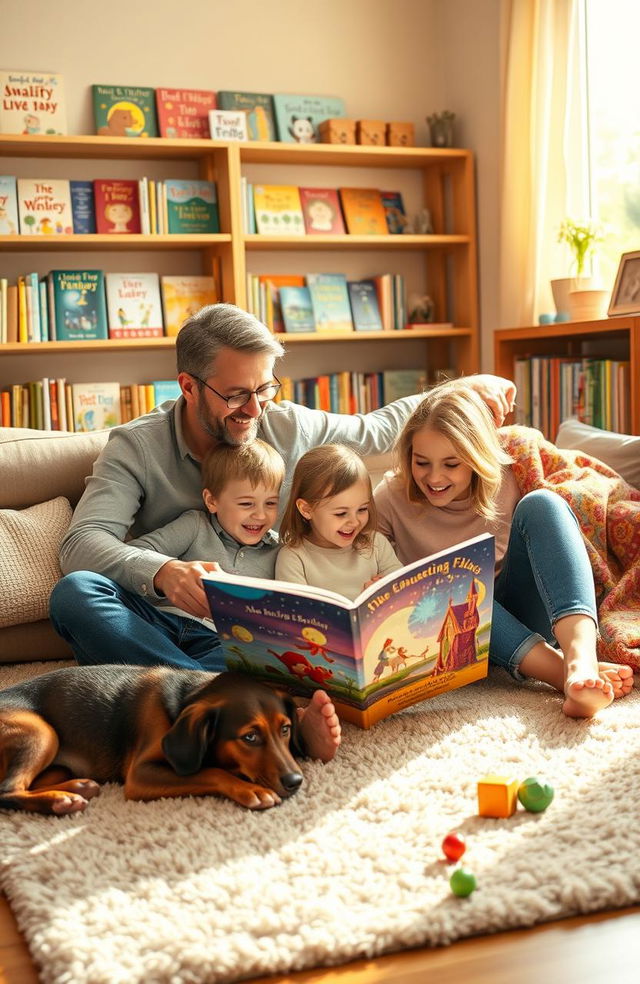
[[[51,270],[55,337],[58,341],[107,338],[102,270]]]

